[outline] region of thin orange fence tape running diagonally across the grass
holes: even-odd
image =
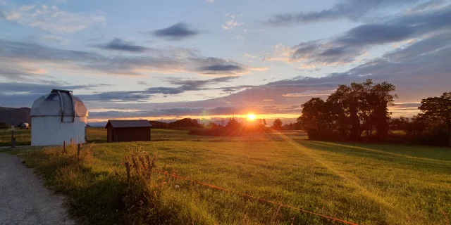
[[[325,216],[323,214],[319,214],[319,213],[316,213],[316,212],[310,212],[310,211],[307,211],[307,210],[302,210],[302,209],[299,209],[297,207],[292,207],[290,205],[285,205],[285,204],[282,204],[282,203],[276,203],[276,202],[273,202],[273,201],[270,201],[270,200],[266,200],[266,199],[263,199],[263,198],[258,198],[258,197],[255,197],[255,196],[252,196],[252,195],[248,195],[248,194],[245,194],[245,193],[240,193],[240,192],[237,192],[237,191],[231,191],[231,190],[228,190],[226,188],[221,188],[221,187],[218,187],[218,186],[214,186],[212,184],[206,184],[206,183],[203,183],[203,182],[200,182],[200,181],[194,181],[193,179],[189,179],[189,178],[186,178],[186,177],[183,177],[183,176],[177,176],[177,175],[174,175],[174,174],[168,174],[167,172],[161,172],[161,171],[156,171],[156,172],[159,173],[159,174],[165,174],[165,175],[168,175],[168,176],[173,176],[173,177],[178,178],[178,179],[183,179],[183,180],[186,180],[186,181],[192,181],[193,183],[196,183],[196,184],[202,184],[204,186],[209,186],[210,188],[216,188],[216,189],[219,189],[219,190],[222,190],[222,191],[228,191],[230,193],[235,193],[237,195],[243,195],[243,196],[246,196],[247,198],[254,198],[254,199],[260,200],[262,202],[271,203],[271,204],[275,204],[275,205],[280,205],[280,206],[283,206],[283,207],[288,207],[288,208],[290,208],[292,210],[297,210],[299,212],[305,212],[305,213],[316,215],[318,217],[323,217],[323,218],[326,218],[326,219],[332,219],[333,221],[339,221],[339,222],[342,222],[343,224],[359,225],[359,224],[354,224],[354,223],[352,223],[350,221],[345,221],[345,220],[338,219],[338,218],[335,218],[335,217],[328,217],[328,216]]]

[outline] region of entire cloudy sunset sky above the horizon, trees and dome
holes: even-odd
[[[0,0],[4,107],[69,89],[91,122],[293,122],[365,79],[397,86],[393,116],[451,91],[451,2]]]

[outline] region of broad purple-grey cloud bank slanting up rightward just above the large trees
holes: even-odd
[[[347,72],[332,73],[325,77],[294,77],[252,87],[231,95],[228,101],[240,101],[252,96],[249,102],[273,99],[274,103],[290,105],[304,103],[314,96],[327,97],[331,88],[338,84],[364,82],[390,82],[397,86],[397,101],[419,101],[428,96],[437,96],[449,89],[451,79],[451,32],[437,33],[425,37],[413,44],[383,54],[380,58],[367,60],[362,65]],[[311,91],[315,87],[316,91]],[[296,98],[290,98],[296,97]],[[396,103],[396,101],[395,101]],[[404,105],[401,108],[412,108],[416,105]],[[395,111],[393,111],[395,112]],[[396,111],[395,116],[414,115],[413,111]]]

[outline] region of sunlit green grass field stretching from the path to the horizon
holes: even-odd
[[[221,138],[152,130],[152,142],[104,143],[104,129],[88,129],[88,139],[86,160],[72,166],[60,147],[0,151],[35,167],[89,224],[130,221],[123,162],[138,149],[158,153],[159,167],[180,176],[357,224],[450,224],[449,148],[306,141],[295,132]],[[142,206],[160,224],[332,223],[190,181],[161,184],[154,205]]]

